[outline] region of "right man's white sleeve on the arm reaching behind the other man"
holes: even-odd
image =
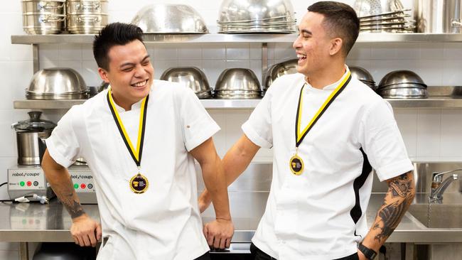
[[[242,131],[252,143],[263,148],[273,147],[273,131],[271,117],[272,88],[276,81],[269,87],[267,93],[257,107],[255,107],[249,119],[242,124]]]

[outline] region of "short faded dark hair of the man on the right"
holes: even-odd
[[[348,55],[360,33],[360,19],[348,4],[336,1],[319,1],[308,7],[308,11],[324,16],[323,26],[334,37],[342,38],[343,53]]]

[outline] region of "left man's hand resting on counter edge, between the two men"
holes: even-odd
[[[204,226],[204,235],[210,247],[215,249],[225,249],[230,247],[234,225],[231,220],[217,219]]]

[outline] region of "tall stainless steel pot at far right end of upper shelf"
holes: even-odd
[[[461,0],[419,0],[419,33],[462,33]]]

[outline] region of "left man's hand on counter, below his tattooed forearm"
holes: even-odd
[[[72,219],[70,234],[80,247],[95,247],[101,239],[101,224],[84,214]]]

